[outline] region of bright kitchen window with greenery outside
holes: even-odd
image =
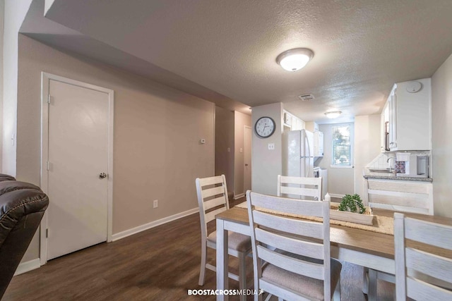
[[[332,167],[352,167],[353,162],[353,125],[333,125],[333,152],[331,155]]]

